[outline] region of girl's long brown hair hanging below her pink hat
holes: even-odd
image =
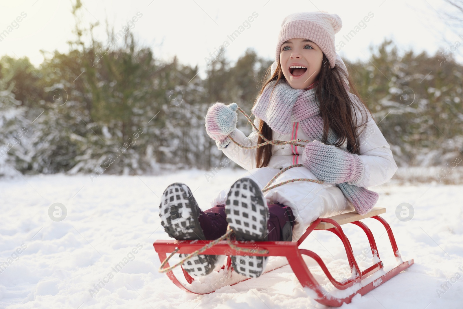
[[[257,96],[257,98],[262,95],[264,88],[272,81],[276,84],[280,80],[286,80],[283,75],[282,67],[280,62],[278,62],[277,68],[273,75],[270,76],[270,68],[266,72],[267,82],[264,82],[262,89]],[[362,103],[364,108],[360,109],[362,118],[365,121],[357,126],[357,114],[354,111],[354,102],[350,100],[350,97],[343,86],[343,78],[349,81],[350,93],[357,95],[359,101]],[[315,80],[315,95],[317,100],[320,102],[320,116],[323,118],[323,139],[321,142],[326,144],[328,138],[328,130],[331,130],[338,135],[338,137],[344,137],[347,139],[347,150],[350,153],[359,154],[359,135],[365,129],[367,125],[367,118],[363,117],[365,111],[368,111],[368,107],[365,105],[365,102],[360,98],[357,89],[354,87],[354,83],[350,79],[350,76],[344,72],[343,69],[340,69],[338,66],[331,68],[326,58],[323,54],[323,64]],[[273,89],[275,89],[275,86]],[[323,97],[321,96],[322,88],[325,89]],[[272,90],[273,91],[273,90]],[[254,101],[254,105],[257,103]],[[371,113],[370,113],[371,115]],[[355,121],[355,122],[354,122]],[[360,128],[357,133],[357,129]],[[259,131],[262,132],[265,138],[272,140],[272,129],[269,125],[260,120]],[[257,143],[263,143],[264,140],[259,136]],[[341,146],[344,143],[344,139],[338,139],[338,141],[333,144],[336,147]],[[256,166],[257,167],[266,167],[269,165],[270,157],[272,156],[272,145],[264,145],[257,148],[256,154]]]

